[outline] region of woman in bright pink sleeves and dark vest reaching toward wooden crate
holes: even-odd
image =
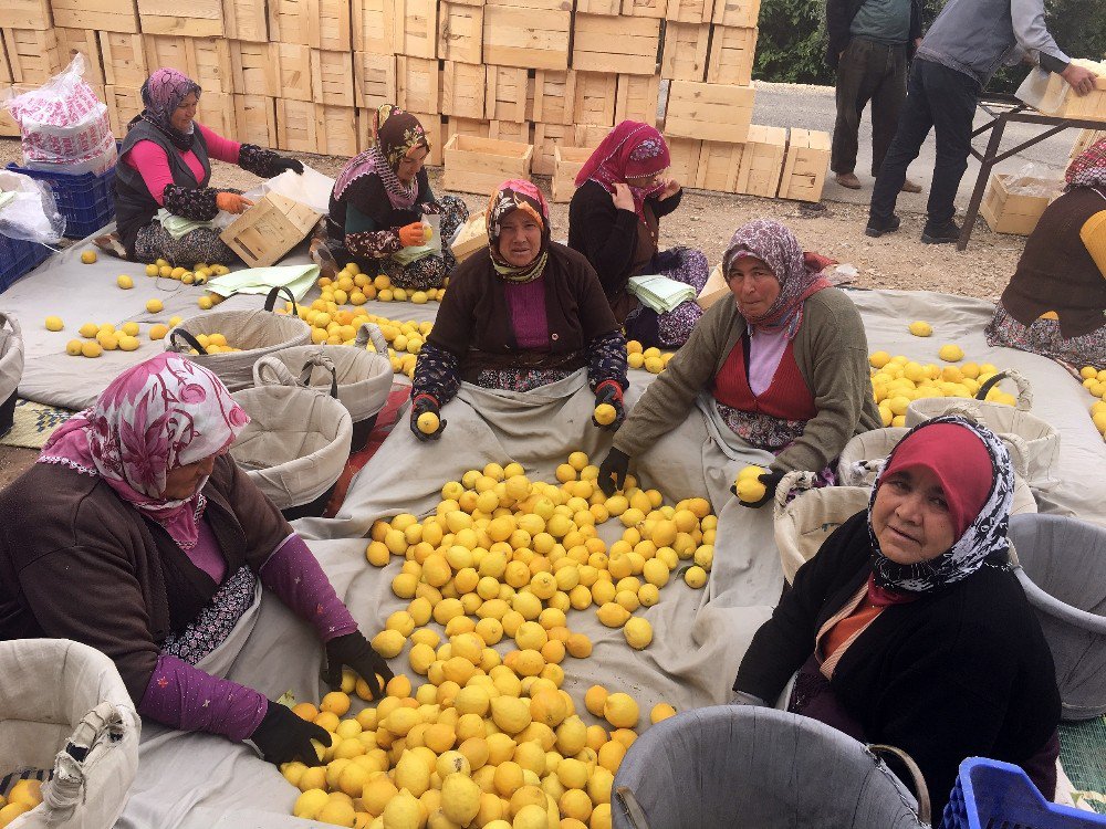
[[[117,232],[96,244],[123,259],[165,259],[191,267],[197,262],[237,262],[238,255],[210,224],[220,210],[241,213],[252,204],[237,190],[210,187],[211,159],[237,164],[270,178],[284,170],[303,172],[293,158],[239,144],[196,120],[200,87],[171,69],[160,69],[142,87],[145,108],[128,125],[115,171]],[[180,233],[175,217],[199,227]]]

